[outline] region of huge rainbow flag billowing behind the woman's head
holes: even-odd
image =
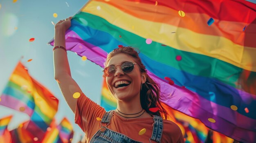
[[[162,96],[173,97],[162,103],[250,143],[256,141],[255,28],[256,4],[245,0],[89,0],[65,38],[68,51],[101,67],[118,45],[139,48]]]

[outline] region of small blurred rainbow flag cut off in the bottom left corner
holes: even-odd
[[[11,141],[10,132],[7,130],[7,125],[13,116],[7,116],[0,119],[0,143],[9,143]]]

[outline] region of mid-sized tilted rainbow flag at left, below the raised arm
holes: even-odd
[[[41,141],[58,110],[58,99],[32,78],[21,62],[18,62],[11,74],[0,98],[0,105],[30,116],[30,121],[23,128]]]

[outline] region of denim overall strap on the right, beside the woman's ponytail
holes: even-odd
[[[156,141],[157,143],[161,143],[161,137],[163,133],[163,119],[162,117],[159,117],[157,115],[154,115],[154,127],[153,127],[153,132],[151,136],[151,140]]]

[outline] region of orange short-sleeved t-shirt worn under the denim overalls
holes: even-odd
[[[104,108],[86,97],[83,93],[77,99],[75,123],[85,132],[86,143],[89,143],[92,136],[101,128],[101,121],[96,120],[96,118],[102,119],[105,112]],[[150,143],[149,138],[152,135],[153,123],[153,117],[125,119],[114,112],[107,128],[124,134],[135,141]],[[163,124],[161,143],[184,143],[179,126],[169,120],[163,120]],[[102,125],[106,126],[106,123],[102,123]],[[139,135],[139,131],[143,128],[146,128],[146,132]],[[151,140],[151,143],[157,142]]]

